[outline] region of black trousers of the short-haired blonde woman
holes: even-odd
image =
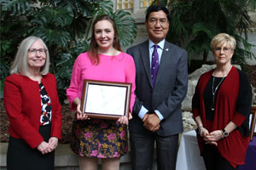
[[[214,145],[204,144],[203,145],[203,159],[207,170],[234,170],[230,162],[220,156],[218,149]]]

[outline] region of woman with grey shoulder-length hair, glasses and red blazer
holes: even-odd
[[[9,170],[54,169],[61,139],[61,105],[55,76],[49,73],[49,53],[38,37],[20,43],[6,77],[3,101],[9,117]]]

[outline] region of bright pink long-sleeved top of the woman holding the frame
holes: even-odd
[[[88,53],[79,54],[73,65],[72,77],[69,88],[67,88],[67,100],[71,109],[75,110],[73,100],[82,98],[84,79],[108,81],[108,82],[130,82],[131,104],[130,111],[135,101],[135,65],[129,54],[120,53],[116,56],[99,54],[99,65],[90,62]]]

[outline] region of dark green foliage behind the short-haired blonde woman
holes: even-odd
[[[247,42],[247,31],[252,24],[249,9],[255,9],[255,0],[166,0],[155,1],[165,4],[171,14],[170,31],[167,40],[184,45],[189,59],[203,55],[207,61],[212,37],[220,32],[236,37],[236,53],[233,62],[243,65],[247,58],[255,56],[250,52],[253,44]],[[241,36],[243,35],[243,37]]]

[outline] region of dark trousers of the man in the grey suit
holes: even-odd
[[[175,170],[178,134],[160,136],[156,133],[131,133],[131,161],[133,170],[151,170],[156,141],[157,169]]]

